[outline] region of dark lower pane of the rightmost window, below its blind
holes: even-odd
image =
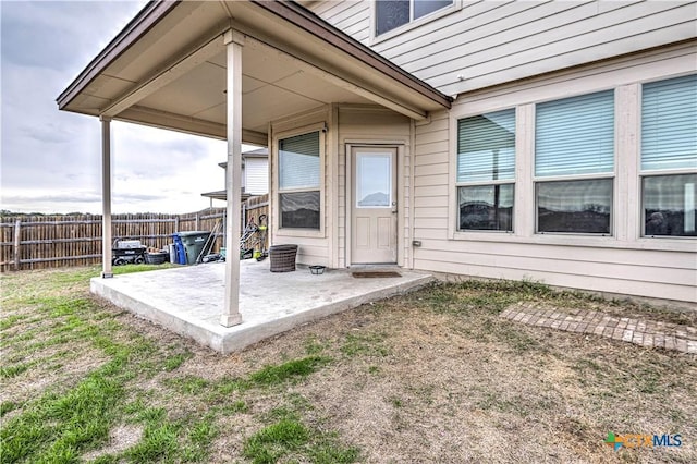
[[[644,235],[697,236],[697,174],[644,178]]]

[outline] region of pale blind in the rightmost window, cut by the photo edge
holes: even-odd
[[[697,169],[697,75],[644,85],[641,169]]]

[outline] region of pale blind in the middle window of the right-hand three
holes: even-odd
[[[535,175],[614,171],[614,91],[539,103]]]

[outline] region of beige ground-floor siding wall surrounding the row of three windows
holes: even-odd
[[[461,95],[415,127],[413,267],[418,270],[697,301],[697,241],[640,236],[640,86],[697,72],[697,40]],[[535,103],[614,89],[613,236],[535,233]],[[458,118],[516,108],[514,233],[456,231],[453,127]],[[452,135],[451,135],[452,134]]]

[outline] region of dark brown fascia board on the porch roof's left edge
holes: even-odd
[[[149,1],[143,10],[114,37],[105,49],[89,62],[77,77],[56,99],[58,109],[64,109],[83,91],[113,60],[118,59],[135,41],[147,34],[172,11],[181,0]]]

